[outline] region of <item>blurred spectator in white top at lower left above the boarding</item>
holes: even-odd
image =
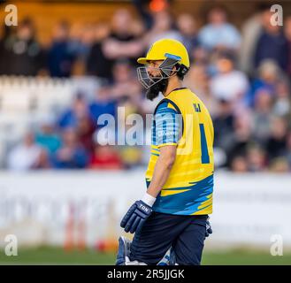
[[[15,171],[25,171],[48,167],[48,159],[40,146],[34,142],[34,134],[27,133],[23,142],[11,149],[8,154],[8,168]]]

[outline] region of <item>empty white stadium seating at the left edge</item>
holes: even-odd
[[[42,118],[56,117],[69,107],[76,93],[92,97],[98,88],[93,78],[52,79],[0,76],[0,167],[13,144]]]

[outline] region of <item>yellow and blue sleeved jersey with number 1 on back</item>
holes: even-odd
[[[160,148],[176,145],[177,155],[153,210],[175,215],[212,213],[213,125],[204,103],[188,88],[177,88],[158,103],[153,123],[147,186]]]

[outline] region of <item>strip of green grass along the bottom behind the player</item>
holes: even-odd
[[[18,256],[5,256],[0,250],[0,264],[114,264],[114,253],[99,253],[93,249],[65,251],[60,248],[41,247],[19,249]],[[263,252],[232,250],[204,252],[202,264],[291,264],[291,253],[271,256]]]

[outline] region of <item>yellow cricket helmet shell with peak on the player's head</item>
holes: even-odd
[[[174,39],[161,39],[154,42],[146,57],[140,57],[137,62],[140,64],[147,64],[148,61],[165,60],[167,57],[177,59],[180,65],[187,68],[190,66],[188,51],[185,46]]]

